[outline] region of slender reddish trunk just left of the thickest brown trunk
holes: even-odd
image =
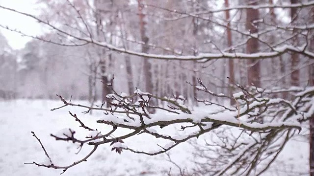
[[[226,8],[229,7],[229,2],[228,0],[225,0],[225,6]],[[231,35],[231,30],[230,30],[230,14],[229,14],[229,10],[226,10],[226,20],[228,21],[227,23],[227,42],[228,42],[228,47],[232,46],[232,35]],[[232,50],[230,50],[229,52],[232,52]],[[234,60],[229,59],[229,86],[233,85],[235,82],[235,70],[234,70]],[[229,88],[229,95],[230,97],[232,97],[234,93],[234,88],[230,87]],[[235,104],[235,100],[231,99],[230,102],[231,105]]]

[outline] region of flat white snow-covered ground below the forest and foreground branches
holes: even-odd
[[[80,102],[88,105],[87,102]],[[0,101],[0,176],[58,176],[62,170],[37,167],[24,164],[32,161],[43,162],[46,156],[31,131],[41,139],[52,162],[57,165],[68,165],[87,154],[91,147],[84,146],[79,154],[73,143],[55,141],[51,133],[57,133],[64,128],[77,131],[80,127],[68,113],[78,114],[86,124],[98,131],[107,132],[108,126],[96,124],[95,121],[104,117],[102,112],[93,112],[93,115],[80,113],[82,109],[66,107],[51,111],[52,108],[62,106],[60,101],[44,100],[16,100]],[[80,129],[80,131],[84,131]],[[123,133],[123,131],[121,131]],[[206,134],[198,140],[204,140]],[[152,140],[143,139],[143,136],[125,140],[128,146],[139,150],[155,150],[157,146],[150,144]],[[153,141],[154,142],[154,141]],[[173,161],[182,168],[193,168],[193,148],[188,143],[180,144],[170,151]],[[309,144],[304,138],[295,137],[288,142],[276,162],[263,176],[307,176],[308,174]],[[121,155],[111,152],[109,145],[102,145],[98,150],[83,162],[68,169],[62,176],[163,176],[170,168],[175,173],[176,167],[165,160],[166,155],[148,156],[133,154],[124,151]]]

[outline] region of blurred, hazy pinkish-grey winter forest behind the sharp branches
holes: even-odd
[[[99,42],[127,50],[178,56],[267,53],[287,45],[313,48],[311,3],[308,0],[38,1],[42,11],[39,18],[70,34],[82,38],[93,36]],[[238,8],[245,5],[256,8]],[[55,30],[47,29],[38,38],[23,49],[13,50],[0,34],[0,98],[56,99],[55,94],[60,94],[95,102],[104,100],[110,93],[105,84],[110,84],[114,75],[112,84],[117,92],[131,94],[136,87],[160,97],[183,95],[193,103],[200,92],[186,82],[196,85],[197,78],[209,90],[224,94],[234,93],[233,82],[243,86],[253,83],[261,88],[304,87],[309,84],[314,63],[297,52],[262,59],[257,54],[257,59],[251,60],[156,60],[114,52],[95,44],[66,46],[63,42],[71,43],[69,37]],[[279,96],[288,97],[285,93]]]

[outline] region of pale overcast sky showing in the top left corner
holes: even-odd
[[[22,12],[36,14],[36,0],[0,0],[0,4]],[[40,25],[29,17],[19,15],[7,10],[0,9],[0,24],[7,25],[12,29],[18,29],[29,35],[41,33]],[[28,37],[0,28],[1,33],[6,37],[13,49],[21,49],[30,41]]]

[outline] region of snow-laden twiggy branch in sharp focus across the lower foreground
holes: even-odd
[[[193,86],[196,86],[199,91],[208,93],[209,96],[218,96],[223,99],[231,98],[213,93],[200,79],[198,79],[198,84],[199,85]],[[243,157],[245,156],[244,154],[252,154],[252,156],[255,156],[255,159],[253,158],[249,165],[251,168],[254,168],[256,167],[256,163],[258,163],[262,157],[260,153],[266,151],[264,151],[264,149],[272,148],[272,145],[275,145],[276,150],[273,154],[280,152],[289,137],[294,132],[300,132],[302,130],[301,123],[313,117],[314,88],[307,88],[305,90],[296,88],[290,90],[291,92],[294,91],[296,94],[294,100],[290,103],[283,99],[269,98],[269,92],[271,92],[271,90],[264,90],[256,87],[247,89],[240,85],[235,85],[235,87],[241,92],[235,93],[234,97],[232,97],[237,101],[237,106],[220,105],[212,103],[210,99],[202,100],[195,97],[197,101],[200,104],[203,103],[206,108],[194,110],[191,109],[191,107],[184,105],[184,102],[181,100],[183,96],[177,98],[158,97],[149,92],[142,92],[139,89],[131,95],[125,93],[118,94],[113,90],[114,93],[107,95],[107,103],[110,104],[109,108],[103,108],[103,105],[89,107],[75,104],[72,101],[65,100],[61,95],[57,95],[63,105],[52,110],[58,110],[67,106],[86,109],[84,113],[88,113],[90,110],[100,110],[104,112],[104,117],[97,120],[96,123],[109,125],[112,127],[112,130],[102,134],[79,120],[77,114],[69,112],[70,116],[74,117],[75,121],[78,122],[82,131],[90,131],[90,134],[87,135],[86,139],[78,139],[75,136],[75,131],[66,129],[66,131],[62,131],[61,134],[51,134],[51,136],[55,140],[77,143],[79,144],[80,149],[84,145],[94,146],[91,152],[81,160],[68,166],[58,166],[57,163],[53,163],[52,161],[50,164],[41,164],[37,162],[28,164],[63,169],[63,172],[65,172],[67,169],[80,162],[86,161],[86,159],[96,151],[97,147],[103,144],[110,144],[111,150],[118,154],[121,154],[123,151],[130,151],[136,154],[157,155],[165,153],[191,138],[198,138],[205,133],[219,134],[219,131],[231,128],[239,131],[237,132],[240,134],[239,137],[234,137],[235,134],[219,134],[221,135],[219,136],[221,139],[235,141],[235,144],[232,147],[235,149],[234,151],[231,150],[232,154],[234,154],[233,157],[229,157],[228,161],[225,160],[226,157],[221,158],[221,162],[225,164],[220,168],[220,174],[217,172],[216,175],[223,175],[223,173],[229,172],[230,169],[235,169],[234,167],[238,165],[234,163],[242,162]],[[153,99],[159,100],[164,104],[152,106],[150,105],[150,102],[153,101]],[[156,113],[149,113],[149,109],[155,109]],[[166,127],[168,128],[172,126],[181,126],[181,130],[178,131],[179,134],[167,133],[167,131],[164,130]],[[125,134],[115,134],[117,129],[129,129],[130,131]],[[183,134],[182,132],[188,133]],[[157,144],[160,148],[155,151],[139,151],[128,147],[128,143],[124,141],[124,139],[142,134],[148,134],[148,136],[151,136],[152,138],[168,141],[168,144],[165,146]],[[240,140],[243,135],[245,138],[249,139]],[[286,139],[285,137],[283,138],[283,136],[288,137],[286,137]],[[37,137],[36,139],[40,142]],[[244,141],[251,141],[251,143]],[[281,143],[277,144],[279,141],[281,141]],[[41,142],[40,144],[42,145]],[[154,144],[148,143],[147,145]],[[280,148],[278,148],[278,146]],[[47,157],[49,157],[43,145],[42,148]],[[274,157],[273,154],[271,154],[271,157]],[[248,169],[248,173],[250,172],[252,172],[252,170]]]

